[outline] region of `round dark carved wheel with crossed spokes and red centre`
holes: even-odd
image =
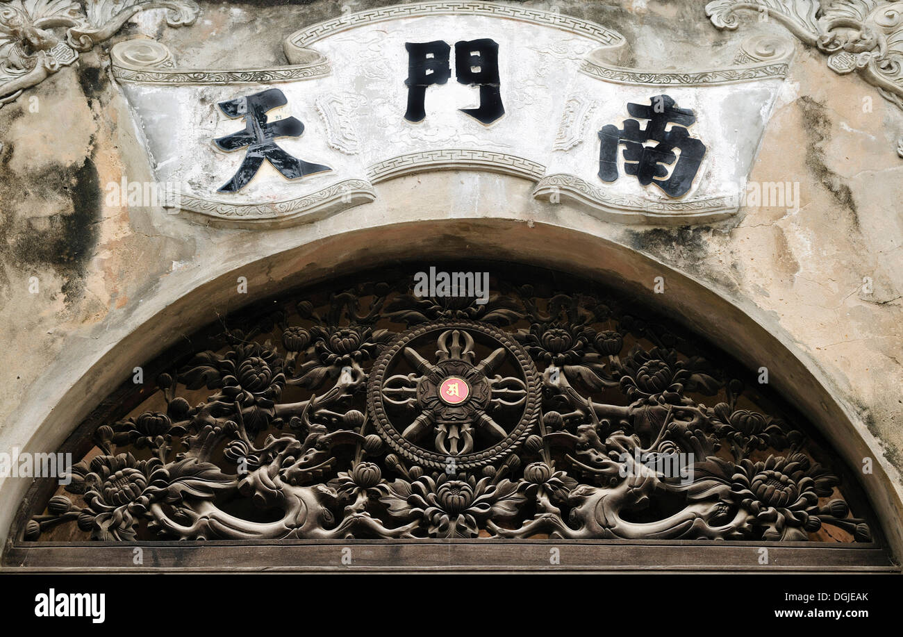
[[[491,349],[479,361],[477,339]],[[423,349],[434,344],[437,360],[421,356],[419,343]],[[400,357],[415,371],[393,373]],[[512,376],[496,373],[506,361],[516,368]],[[377,431],[397,454],[452,472],[496,463],[515,451],[535,429],[539,398],[526,351],[498,328],[470,321],[425,323],[403,333],[374,365],[368,389]],[[392,409],[399,415],[389,417]],[[414,417],[399,420],[405,415]]]

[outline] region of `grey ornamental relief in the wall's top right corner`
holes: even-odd
[[[719,29],[736,29],[740,10],[774,18],[800,41],[827,54],[836,73],[856,71],[903,108],[903,2],[887,0],[714,0],[705,13]],[[903,157],[903,137],[898,141]]]

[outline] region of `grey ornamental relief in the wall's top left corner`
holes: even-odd
[[[0,0],[0,106],[155,8],[167,10],[170,26],[194,23],[200,11],[193,0]]]

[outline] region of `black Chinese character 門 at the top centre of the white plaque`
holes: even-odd
[[[445,84],[452,77],[449,63],[452,47],[442,40],[405,42],[407,50],[407,110],[405,119],[422,122],[426,117],[426,89]],[[459,84],[479,86],[479,108],[461,108],[481,124],[492,124],[505,115],[498,77],[498,43],[482,38],[455,42],[455,75]]]

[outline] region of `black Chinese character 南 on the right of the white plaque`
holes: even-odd
[[[618,179],[618,145],[623,144],[625,173],[636,176],[644,186],[655,183],[668,196],[680,197],[690,190],[705,155],[703,142],[691,137],[684,127],[693,124],[696,117],[689,108],[675,108],[675,100],[667,95],[656,95],[649,101],[651,106],[630,102],[627,105],[631,116],[649,120],[645,128],[640,129],[636,119],[625,119],[623,130],[611,124],[602,126],[599,131],[599,178],[603,182]],[[674,126],[666,131],[668,124]],[[647,146],[645,142],[657,144]],[[674,153],[675,148],[680,150],[679,159]],[[668,170],[662,164],[672,164],[675,159],[677,163],[670,177],[653,179],[665,177]]]

